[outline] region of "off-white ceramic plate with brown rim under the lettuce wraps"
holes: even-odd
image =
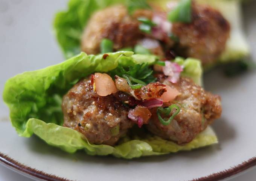
[[[51,31],[52,18],[67,0],[0,0],[0,92],[5,81],[23,71],[62,61]],[[256,59],[256,3],[247,5],[245,30]],[[0,100],[0,163],[34,178],[61,180],[212,180],[256,164],[256,73],[226,78],[212,71],[205,86],[222,96],[222,118],[213,125],[219,144],[190,152],[122,160],[67,154],[32,137],[18,137]],[[247,161],[247,162],[245,162]],[[233,169],[231,169],[233,167]],[[56,175],[57,177],[54,177]]]

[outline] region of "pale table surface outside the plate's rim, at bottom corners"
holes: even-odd
[[[20,175],[17,172],[8,169],[7,167],[0,164],[0,181],[33,181],[33,179],[27,178],[26,176]],[[247,170],[246,172],[239,174],[235,178],[229,179],[229,181],[255,181],[256,180],[256,166]]]

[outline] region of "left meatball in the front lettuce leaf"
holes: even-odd
[[[63,97],[62,111],[64,126],[81,132],[90,143],[114,145],[133,126],[128,109],[114,95],[97,95],[90,78]]]

